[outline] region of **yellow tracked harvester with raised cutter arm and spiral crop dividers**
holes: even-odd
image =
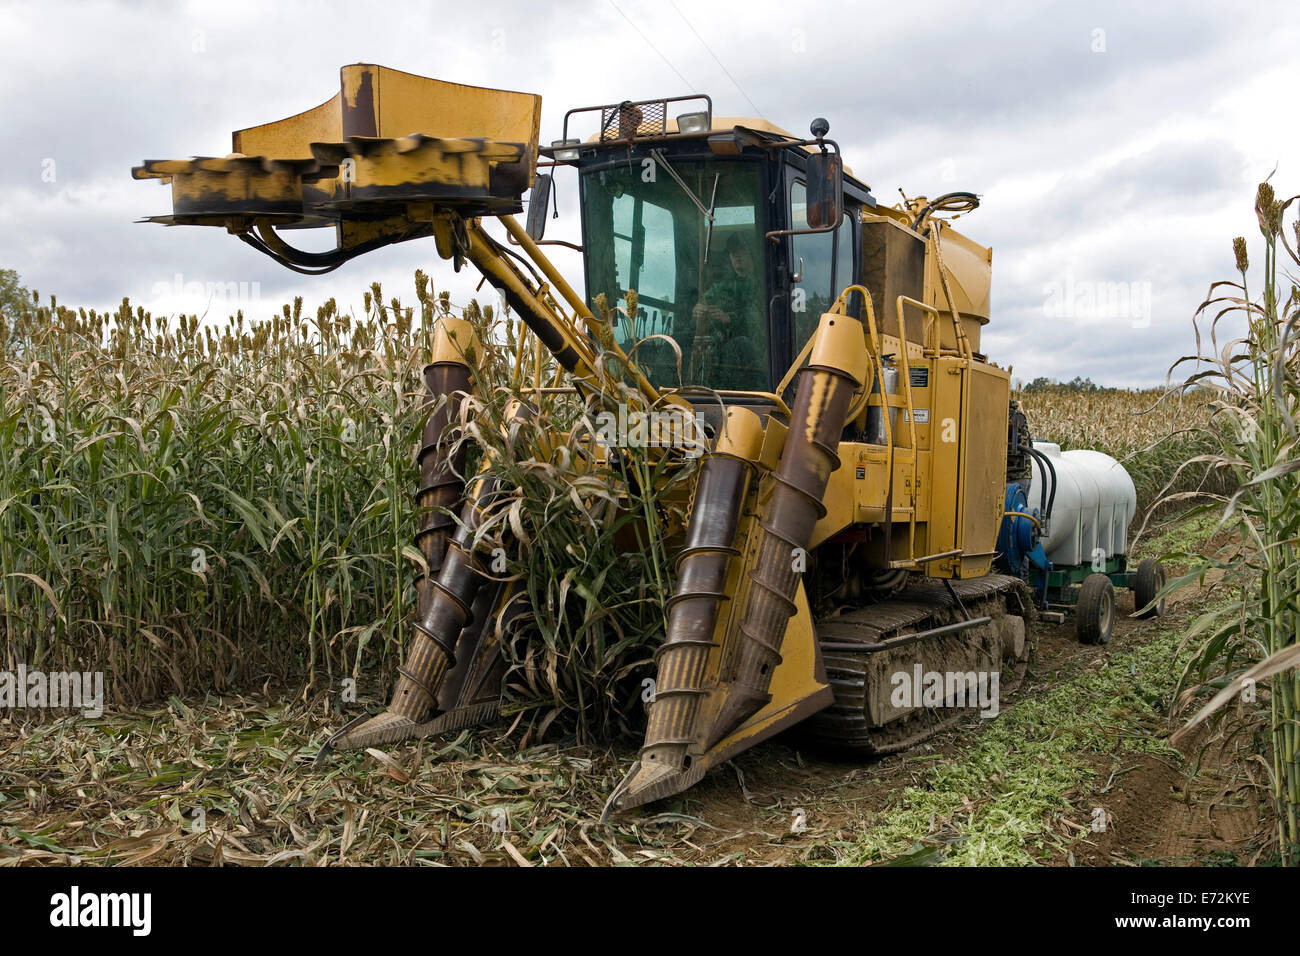
[[[1079,496],[1060,496],[1076,524],[1052,522],[1049,553],[1091,557],[1109,578],[1075,588],[1039,546],[1069,467],[1032,445],[1010,373],[980,351],[992,252],[950,224],[974,195],[885,208],[824,120],[801,138],[715,117],[705,96],[575,109],[541,148],[537,96],[367,64],[341,79],[320,107],[235,133],[226,157],[136,168],[172,186],[172,215],[152,221],[224,226],[304,273],[432,237],[500,291],[585,401],[711,416],[645,744],[611,810],[677,793],[796,724],[852,753],[910,747],[1005,692],[1004,670],[1023,675],[1036,602],[1078,593],[1101,615],[1106,588],[1132,578],[1131,509],[1084,477],[1070,479]],[[577,172],[582,295],[542,250],[560,165]],[[525,228],[514,216],[529,189]],[[335,232],[328,252],[282,234],[322,226]],[[498,713],[495,624],[517,584],[491,575],[476,531],[511,489],[489,455],[467,480],[464,445],[447,440],[476,347],[469,323],[439,320],[413,639],[387,709],[343,727],[322,757]],[[521,390],[511,414],[530,415],[530,398]],[[920,693],[954,672],[937,697]]]

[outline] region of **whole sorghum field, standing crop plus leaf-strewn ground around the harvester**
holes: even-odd
[[[220,330],[26,295],[0,324],[4,667],[101,670],[108,706],[0,715],[0,865],[1294,864],[1297,311],[1277,273],[1288,204],[1261,187],[1257,208],[1265,289],[1249,295],[1240,241],[1240,282],[1217,290],[1244,312],[1236,351],[1206,332],[1178,388],[1018,395],[1035,437],[1132,473],[1135,557],[1171,568],[1165,619],[1124,618],[1106,648],[1045,627],[992,726],[852,767],[779,740],[611,823],[636,697],[610,688],[649,661],[667,563],[649,541],[610,567],[586,515],[618,489],[584,485],[540,432],[497,520],[525,542],[511,574],[555,572],[500,726],[311,763],[382,702],[413,607],[420,375],[452,311],[426,277],[411,304],[373,286],[358,315],[298,299]],[[508,317],[464,313],[489,378],[532,373]],[[481,440],[499,397],[472,406]],[[1242,678],[1258,698],[1219,709]],[[1171,739],[1202,704],[1217,715]],[[1188,822],[1202,806],[1208,830]]]

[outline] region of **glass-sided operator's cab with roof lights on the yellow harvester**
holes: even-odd
[[[564,138],[542,151],[577,169],[588,295],[615,307],[620,346],[656,388],[710,389],[766,414],[764,393],[837,290],[859,281],[854,226],[875,200],[841,179],[822,122],[800,140],[716,118],[707,98],[628,101],[569,111]],[[595,131],[569,137],[584,126]]]

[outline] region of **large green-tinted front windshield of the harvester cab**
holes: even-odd
[[[766,390],[759,165],[668,163],[671,172],[647,156],[584,174],[588,298],[594,308],[604,293],[619,310],[619,346],[656,388]],[[712,209],[711,228],[701,207]],[[672,345],[655,336],[676,342],[680,373]]]

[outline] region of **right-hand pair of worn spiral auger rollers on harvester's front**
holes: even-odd
[[[780,462],[757,496],[749,494],[750,475],[760,467],[764,436],[757,419],[746,418],[751,414],[729,410],[718,446],[701,464],[645,745],[611,795],[607,813],[681,792],[738,749],[831,698],[815,678],[819,667],[805,669],[805,658],[798,667],[807,679],[803,693],[796,692],[793,701],[783,693],[776,713],[764,710],[797,614],[794,640],[819,663],[800,557],[826,514],[822,498],[840,466],[836,447],[845,414],[867,373],[861,323],[828,312],[816,337]],[[729,601],[737,583],[740,596]],[[729,613],[724,605],[733,605]]]

